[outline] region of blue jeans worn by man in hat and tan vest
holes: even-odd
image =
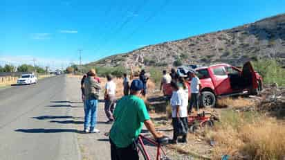
[[[98,100],[95,99],[85,100],[84,129],[87,129],[88,127],[95,127],[96,118],[97,118],[97,112],[96,112],[97,105],[98,105]]]

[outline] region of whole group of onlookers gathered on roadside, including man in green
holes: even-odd
[[[186,143],[189,85],[185,81],[185,78],[181,78],[177,75],[175,70],[170,75],[167,75],[166,71],[163,71],[163,74],[162,85],[160,88],[165,85],[170,85],[173,91],[170,99],[174,127],[172,143],[177,143],[178,136],[182,136],[181,142]],[[189,75],[192,77],[191,93],[195,94],[196,91],[198,91],[199,95],[199,78],[196,78],[194,73],[189,73]],[[113,123],[109,133],[112,160],[138,159],[136,141],[143,125],[147,127],[147,130],[151,132],[155,139],[163,137],[163,134],[156,132],[154,124],[151,122],[147,112],[145,101],[143,100],[143,96],[147,94],[148,79],[149,78],[145,75],[145,71],[142,70],[139,78],[132,80],[131,84],[129,84],[130,80],[127,78],[127,74],[124,74],[122,82],[124,96],[119,100],[116,100],[116,83],[113,82],[111,75],[107,75],[108,82],[104,92],[104,110],[109,119],[107,123]],[[85,113],[84,132],[99,132],[99,130],[95,128],[95,121],[99,90],[101,87],[100,79],[96,76],[95,70],[91,69],[84,75],[81,84]],[[197,85],[192,86],[192,84]],[[197,99],[199,98],[196,97],[196,101]],[[195,100],[194,98],[192,100],[191,97],[190,101],[194,102]],[[192,103],[190,103],[190,106],[192,106],[191,104]],[[198,105],[196,105],[196,107],[198,107]],[[184,126],[183,130],[186,130],[184,134],[178,132],[178,130],[181,130],[181,126],[179,127],[178,124]]]

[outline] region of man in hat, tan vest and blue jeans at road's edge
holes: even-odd
[[[98,133],[100,132],[95,128],[97,117],[97,106],[99,99],[100,84],[94,79],[96,76],[95,69],[91,69],[87,73],[87,78],[84,80],[84,132]],[[90,128],[89,128],[90,127]]]

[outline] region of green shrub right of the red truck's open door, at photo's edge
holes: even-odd
[[[264,83],[285,85],[285,69],[282,69],[277,60],[257,60],[253,62],[253,66],[255,71],[262,76]]]

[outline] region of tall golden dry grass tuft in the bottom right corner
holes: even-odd
[[[241,139],[245,143],[241,152],[250,159],[284,159],[285,126],[276,121],[259,121],[241,128]]]

